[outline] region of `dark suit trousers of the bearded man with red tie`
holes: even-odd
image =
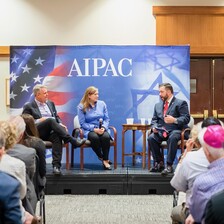
[[[167,141],[167,164],[172,165],[177,153],[177,143],[180,140],[181,131],[171,131],[167,138],[161,134],[152,133],[148,137],[149,147],[155,162],[164,161],[162,158],[160,145],[162,141]]]

